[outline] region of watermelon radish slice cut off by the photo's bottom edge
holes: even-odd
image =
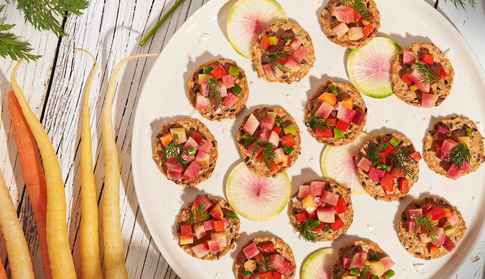
[[[301,279],[330,279],[337,251],[327,248],[311,254],[301,267]]]

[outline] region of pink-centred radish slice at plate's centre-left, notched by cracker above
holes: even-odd
[[[241,216],[266,221],[280,214],[291,194],[286,172],[276,178],[255,175],[244,162],[234,167],[226,182],[227,200]]]

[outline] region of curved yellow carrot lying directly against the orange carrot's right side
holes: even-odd
[[[33,136],[36,138],[44,164],[47,186],[47,249],[51,262],[52,277],[54,279],[77,279],[69,239],[67,237],[64,182],[61,176],[59,161],[57,160],[56,152],[49,140],[49,136],[42,127],[39,119],[30,110],[22,90],[20,90],[19,85],[15,81],[15,73],[21,62],[22,59],[18,61],[12,71],[11,83],[20,107],[22,107],[25,119],[28,122]]]

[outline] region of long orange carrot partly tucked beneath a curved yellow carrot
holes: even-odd
[[[32,204],[33,217],[36,220],[37,233],[41,242],[42,261],[46,279],[52,279],[49,252],[47,251],[46,235],[46,212],[47,212],[47,187],[46,177],[42,169],[39,150],[36,139],[28,126],[27,120],[22,113],[22,108],[15,96],[14,91],[8,93],[10,118],[15,144],[19,151],[20,167],[23,180],[27,187],[28,197]]]

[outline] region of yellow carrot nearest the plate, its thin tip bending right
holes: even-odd
[[[111,110],[116,88],[116,77],[121,66],[127,61],[155,56],[158,53],[137,54],[121,60],[113,70],[106,93],[105,108],[102,112],[102,137],[105,150],[105,188],[102,204],[103,244],[105,247],[105,278],[128,278],[123,253],[123,239],[120,223],[120,165],[118,149],[113,135]]]

